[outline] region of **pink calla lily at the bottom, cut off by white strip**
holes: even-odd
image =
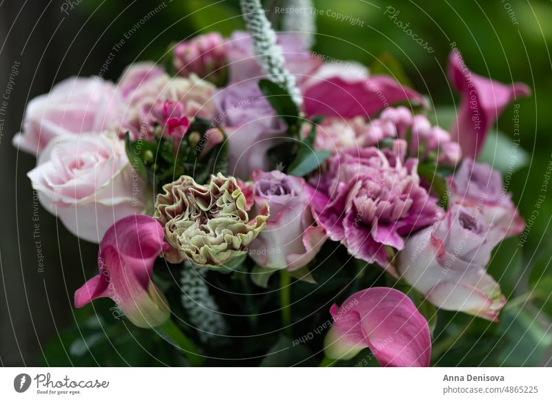
[[[368,347],[381,366],[429,366],[431,337],[425,318],[404,293],[373,287],[334,304],[326,335],[328,358],[350,360]]]

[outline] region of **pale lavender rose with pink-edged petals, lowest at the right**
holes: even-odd
[[[439,222],[406,241],[397,270],[435,306],[494,321],[506,298],[485,266],[504,235],[477,208],[452,204]]]

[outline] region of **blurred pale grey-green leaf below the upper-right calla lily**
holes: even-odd
[[[478,157],[481,163],[490,164],[503,175],[509,175],[529,163],[530,155],[518,142],[499,130],[487,134]]]

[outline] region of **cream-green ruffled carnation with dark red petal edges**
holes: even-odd
[[[212,175],[210,184],[197,184],[183,175],[157,195],[155,219],[170,245],[168,262],[189,260],[199,266],[220,266],[248,251],[265,227],[268,205],[251,219],[246,197],[233,177]]]

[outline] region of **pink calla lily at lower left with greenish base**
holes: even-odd
[[[166,322],[168,302],[150,280],[163,239],[163,228],[153,217],[133,215],[113,224],[100,244],[99,275],[75,291],[75,306],[109,297],[136,326],[150,328]]]

